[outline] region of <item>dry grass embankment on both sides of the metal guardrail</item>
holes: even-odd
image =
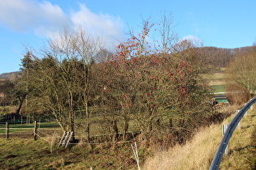
[[[225,109],[228,113],[234,111],[234,108]],[[235,113],[223,123],[228,124]],[[231,155],[223,158],[220,169],[249,169],[249,166],[254,164],[249,161],[251,151],[248,150],[251,136],[254,133],[254,125],[256,125],[255,115],[254,111],[254,115],[249,113],[247,117],[244,117],[241,121],[241,129],[232,134],[232,139],[228,143]],[[194,138],[184,146],[159,151],[154,157],[146,160],[143,169],[209,169],[221,138],[221,125],[210,125],[198,131]]]

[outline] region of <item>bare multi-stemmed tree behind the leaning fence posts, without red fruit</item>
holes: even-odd
[[[87,130],[88,139],[89,102],[95,86],[91,68],[94,57],[102,49],[101,42],[89,36],[83,28],[65,28],[59,36],[48,40],[48,46],[41,50],[42,57],[34,57],[35,66],[29,67],[31,87],[39,89],[32,96],[34,104],[39,104],[38,99],[41,99],[42,105],[54,114],[65,131],[75,131],[75,126],[80,124]],[[25,70],[27,68],[24,66]],[[85,112],[80,112],[80,118],[84,122],[81,124],[76,122],[75,115],[83,109]]]

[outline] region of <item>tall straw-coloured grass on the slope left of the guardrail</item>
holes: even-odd
[[[236,113],[236,108],[237,106],[229,106],[223,108],[221,112],[224,117],[228,117],[232,113]],[[223,122],[229,122],[231,119],[232,117],[228,117]],[[158,151],[153,157],[145,161],[143,169],[209,169],[221,138],[221,124],[204,127],[185,145],[177,145],[167,151]]]

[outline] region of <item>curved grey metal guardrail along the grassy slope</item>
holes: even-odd
[[[241,118],[245,115],[246,111],[255,102],[256,102],[256,97],[252,100],[249,100],[249,102],[247,104],[245,104],[244,107],[241,108],[241,110],[238,113],[236,113],[236,116],[228,124],[228,128],[225,131],[225,134],[223,135],[221,142],[219,143],[219,147],[215,153],[215,157],[210,164],[210,170],[219,169],[219,164],[221,162],[223,153],[224,153],[226,147],[228,146],[228,141],[231,138],[233,131],[236,129],[236,126],[241,121]]]

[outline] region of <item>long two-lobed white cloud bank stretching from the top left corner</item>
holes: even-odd
[[[118,16],[94,14],[83,4],[78,11],[65,14],[49,1],[0,0],[0,25],[46,37],[54,37],[64,27],[83,26],[89,33],[102,36],[109,45],[124,38],[123,22]]]

